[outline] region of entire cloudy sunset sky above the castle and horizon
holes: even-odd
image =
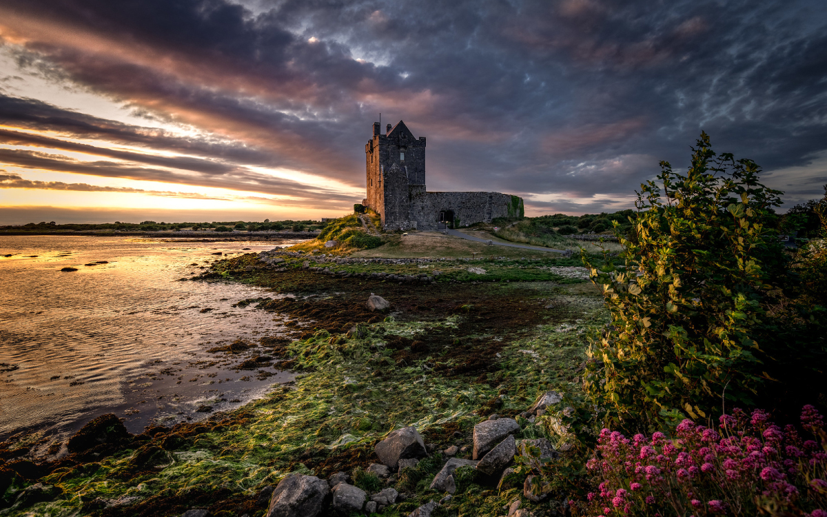
[[[0,0],[0,223],[336,217],[372,123],[428,190],[633,208],[701,131],[827,184],[821,0]],[[783,210],[784,208],[782,208]]]

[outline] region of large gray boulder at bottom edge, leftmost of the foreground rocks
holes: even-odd
[[[293,474],[275,487],[267,517],[317,517],[324,515],[329,501],[327,481],[316,476]]]

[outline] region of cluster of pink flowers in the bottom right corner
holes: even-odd
[[[600,432],[586,467],[600,481],[586,515],[786,515],[827,517],[827,433],[811,405],[801,427],[779,428],[769,415],[740,409],[717,428],[684,420],[672,438]],[[817,441],[816,441],[817,440]]]

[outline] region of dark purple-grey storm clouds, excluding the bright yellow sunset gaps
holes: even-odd
[[[611,206],[658,160],[686,166],[701,129],[766,170],[827,152],[815,1],[7,0],[0,15],[22,66],[220,141],[19,99],[0,99],[0,117],[189,150],[204,160],[173,166],[203,165],[211,186],[244,163],[361,185],[378,112],[428,136],[429,188],[522,193],[538,208],[543,194]],[[813,190],[788,183],[792,200]]]

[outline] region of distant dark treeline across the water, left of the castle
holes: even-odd
[[[155,221],[144,221],[142,223],[121,223],[116,221],[114,223],[103,224],[58,224],[54,221],[50,223],[28,223],[16,226],[0,226],[0,232],[83,232],[83,231],[119,231],[119,232],[160,232],[165,230],[181,231],[181,230],[213,230],[215,232],[232,232],[233,230],[242,230],[247,232],[266,232],[266,231],[280,231],[290,230],[292,232],[308,232],[323,228],[326,223],[318,221],[294,221],[287,219],[284,221],[270,221],[265,219],[263,222],[257,221],[213,221],[212,223],[156,223]]]

